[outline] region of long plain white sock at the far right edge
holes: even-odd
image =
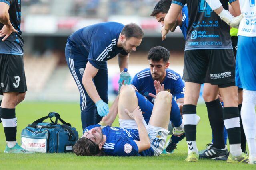
[[[256,91],[244,90],[241,118],[249,147],[249,154],[256,156]]]

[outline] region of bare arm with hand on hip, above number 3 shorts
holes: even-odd
[[[7,4],[9,3],[9,4]],[[11,24],[8,10],[10,8],[10,1],[0,2],[0,22],[4,27],[0,30],[0,37],[4,37],[2,41],[6,40],[12,32],[18,32]]]

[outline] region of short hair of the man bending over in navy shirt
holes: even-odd
[[[130,23],[124,26],[121,35],[124,35],[126,39],[130,39],[131,37],[142,39],[144,32],[137,24]]]

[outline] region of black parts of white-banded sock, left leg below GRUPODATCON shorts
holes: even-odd
[[[184,104],[182,108],[183,118],[186,115],[195,114],[196,115],[196,106],[192,104]],[[196,123],[186,125],[184,124],[186,141],[196,141]]]

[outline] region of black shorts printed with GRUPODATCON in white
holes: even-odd
[[[187,50],[184,57],[183,80],[199,84],[207,82],[212,85],[234,86],[235,66],[232,49]]]

